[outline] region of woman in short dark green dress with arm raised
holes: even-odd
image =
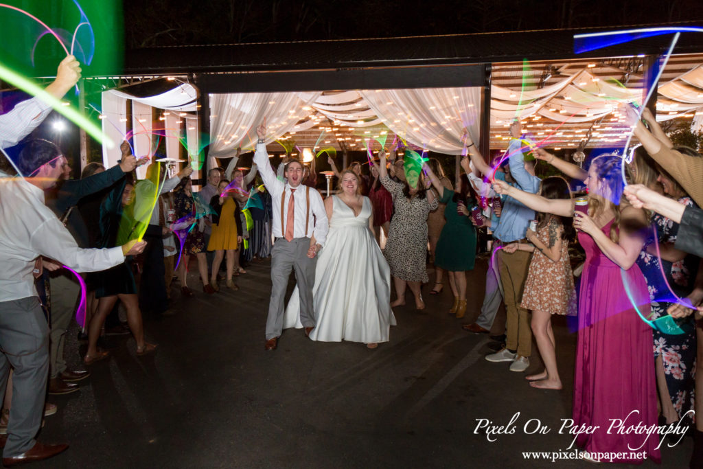
[[[470,219],[470,209],[476,205],[476,193],[466,174],[461,175],[459,191],[455,192],[441,184],[427,163],[423,169],[430,177],[432,186],[441,194],[439,202],[446,204],[446,224],[437,241],[434,265],[449,271],[449,286],[454,294],[454,304],[449,314],[463,318],[466,312],[465,272],[474,269],[476,259],[476,229]]]

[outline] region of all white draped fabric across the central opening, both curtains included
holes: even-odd
[[[238,147],[252,148],[256,127],[264,117],[269,133],[266,143],[289,131],[295,134],[331,121],[349,128],[374,127],[384,134],[380,129],[387,127],[415,147],[459,155],[464,128],[478,143],[480,99],[476,87],[214,94],[210,98],[209,155],[226,158]]]

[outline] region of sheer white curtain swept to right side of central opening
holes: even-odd
[[[383,124],[415,146],[460,155],[464,128],[479,143],[479,87],[389,89],[360,94]]]

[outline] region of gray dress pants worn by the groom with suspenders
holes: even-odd
[[[293,238],[290,242],[285,238],[276,238],[276,243],[273,243],[271,302],[269,319],[266,320],[266,340],[280,337],[283,330],[283,302],[291,269],[295,269],[295,281],[300,293],[300,322],[304,327],[315,326],[312,288],[315,285],[317,257],[307,257],[309,248],[310,238]]]

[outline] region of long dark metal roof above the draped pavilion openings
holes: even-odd
[[[683,24],[647,26],[677,25]],[[686,25],[690,26],[688,23]],[[574,53],[574,34],[631,28],[602,27],[387,39],[152,47],[128,51],[125,74],[455,65],[510,62],[523,58],[564,60],[577,57],[662,53],[671,41],[671,34],[666,34],[610,46],[599,51],[579,55]],[[676,53],[702,51],[703,35],[695,32],[683,33],[676,46]]]

